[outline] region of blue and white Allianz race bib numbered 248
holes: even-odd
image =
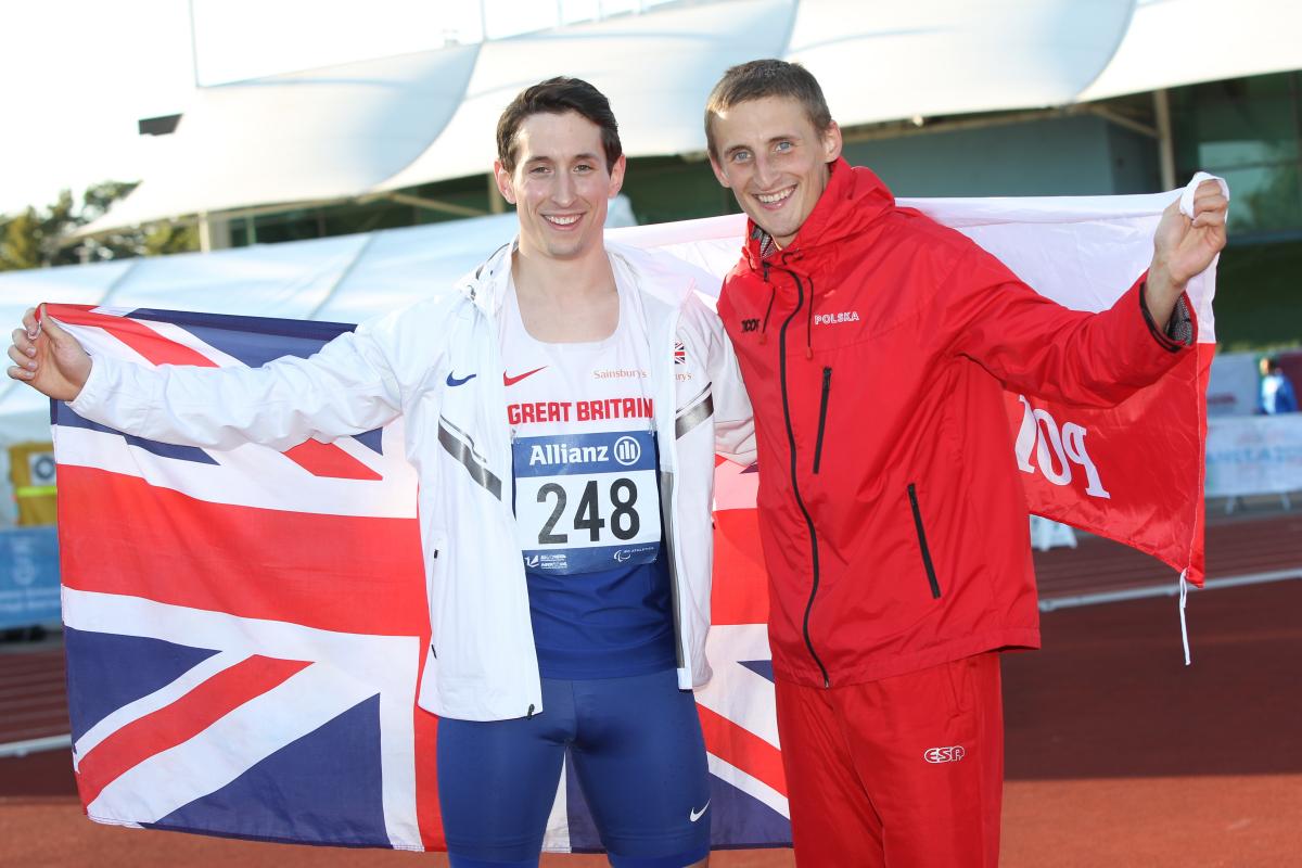
[[[519,437],[512,448],[525,569],[564,575],[655,561],[660,553],[655,435]]]

